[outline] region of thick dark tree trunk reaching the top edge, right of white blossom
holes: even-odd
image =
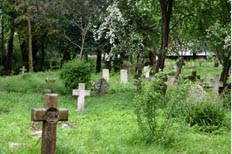
[[[158,61],[156,65],[156,72],[158,72],[159,69],[163,70],[164,68],[166,50],[168,48],[168,37],[170,31],[170,19],[172,14],[173,1],[174,0],[168,0],[166,2],[166,0],[160,0],[160,7],[162,12],[162,38],[160,52],[157,54]]]

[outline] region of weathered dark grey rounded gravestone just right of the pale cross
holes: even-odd
[[[103,96],[108,91],[109,84],[104,78],[101,78],[94,83],[93,87],[97,90],[98,96]]]

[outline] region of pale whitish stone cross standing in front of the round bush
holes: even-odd
[[[90,96],[90,90],[85,90],[84,84],[79,84],[79,89],[73,89],[73,96],[78,96],[77,99],[77,111],[84,111],[85,96]]]

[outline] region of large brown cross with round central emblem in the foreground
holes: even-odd
[[[68,120],[68,110],[57,108],[57,94],[46,94],[44,108],[32,109],[31,120],[43,122],[41,154],[55,154],[56,124]]]

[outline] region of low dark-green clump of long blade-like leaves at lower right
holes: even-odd
[[[220,103],[204,100],[191,105],[186,121],[190,126],[197,125],[205,132],[212,132],[222,126],[224,117],[224,109]]]

